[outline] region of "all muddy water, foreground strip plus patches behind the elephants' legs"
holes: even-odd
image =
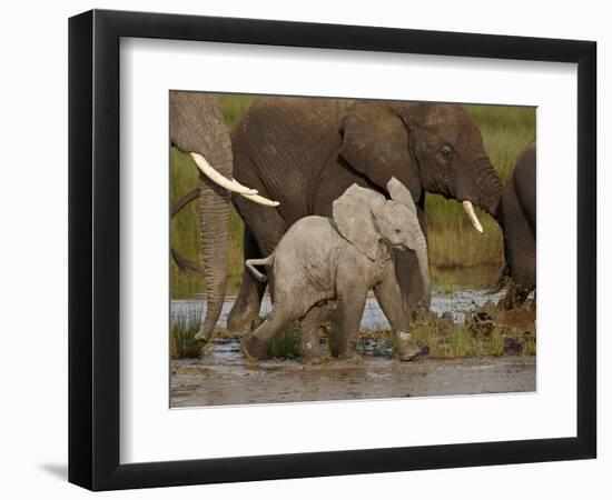
[[[496,303],[503,292],[463,289],[433,293],[432,310],[450,312],[462,322],[465,314],[487,301]],[[219,326],[225,328],[235,298],[224,304]],[[270,310],[266,297],[261,314]],[[206,312],[201,299],[174,300],[172,317]],[[388,328],[376,300],[369,297],[362,329]],[[264,360],[257,368],[245,364],[239,341],[217,338],[199,359],[171,362],[172,407],[329,401],[419,396],[529,392],[535,390],[535,357],[507,356],[436,360],[423,358],[402,363],[391,346],[364,339],[361,363],[333,361],[303,367],[298,361]]]

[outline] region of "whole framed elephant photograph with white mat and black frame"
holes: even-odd
[[[592,41],[71,18],[69,480],[595,458],[595,74]]]

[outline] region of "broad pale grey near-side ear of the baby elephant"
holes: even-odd
[[[376,259],[381,240],[372,212],[384,202],[382,194],[353,184],[333,206],[334,221],[339,233],[372,260]]]

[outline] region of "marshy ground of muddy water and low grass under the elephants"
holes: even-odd
[[[193,339],[201,300],[174,301],[171,407],[535,391],[535,310],[504,311],[496,306],[501,297],[470,289],[434,292],[433,313],[412,324],[422,347],[415,361],[397,360],[388,323],[371,300],[359,363],[304,367],[299,338],[288,328],[256,368],[245,363],[238,336],[220,329],[205,348]],[[334,324],[327,333],[322,342],[333,352]]]

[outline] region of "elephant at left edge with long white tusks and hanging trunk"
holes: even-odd
[[[180,268],[203,271],[206,283],[206,317],[196,338],[208,340],[225,300],[229,231],[229,192],[247,197],[248,202],[275,206],[231,179],[234,160],[229,132],[213,96],[200,92],[170,93],[170,140],[191,154],[198,167],[199,187],[172,208],[172,217],[199,196],[199,223],[204,262],[191,262],[172,248]],[[214,166],[214,167],[213,167]]]

